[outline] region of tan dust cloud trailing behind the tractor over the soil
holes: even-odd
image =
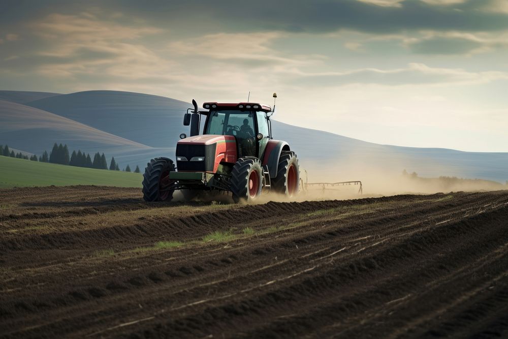
[[[338,164],[326,164],[320,167],[300,167],[300,192],[288,198],[281,194],[263,191],[261,197],[253,204],[269,201],[290,202],[306,200],[345,200],[367,197],[391,196],[399,194],[433,194],[450,192],[485,192],[508,190],[506,184],[497,181],[482,179],[463,179],[450,175],[447,169],[433,168],[434,172],[443,173],[440,177],[422,177],[415,172],[404,170],[407,162],[396,162],[393,159],[388,163],[365,164],[361,161],[349,159]],[[361,181],[357,183],[340,184],[336,186],[312,183],[339,181]],[[360,190],[362,188],[362,190]],[[194,201],[232,203],[231,194],[212,191],[199,194]],[[184,201],[181,193],[174,193],[173,201]]]

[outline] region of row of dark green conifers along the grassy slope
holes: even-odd
[[[96,168],[96,169],[109,169],[112,171],[119,171],[120,166],[115,161],[115,158],[112,157],[111,161],[108,166],[108,162],[106,160],[106,156],[104,153],[95,153],[93,156],[93,160],[90,157],[89,153],[81,152],[81,150],[78,149],[76,152],[73,150],[72,154],[69,155],[69,147],[67,144],[62,145],[55,144],[53,145],[53,149],[50,153],[48,151],[44,151],[44,153],[37,157],[36,155],[33,155],[31,157],[23,155],[21,152],[15,153],[13,150],[9,149],[8,145],[0,145],[0,155],[4,157],[12,157],[12,158],[19,158],[19,159],[26,159],[31,161],[39,161],[43,163],[52,163],[52,164],[60,164],[60,165],[68,165],[68,166],[77,166],[77,167],[86,167],[86,168]],[[131,172],[131,167],[129,164],[124,169],[125,172]],[[134,170],[135,173],[140,173],[139,166],[136,166],[136,169]]]

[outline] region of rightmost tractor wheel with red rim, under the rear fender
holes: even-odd
[[[300,189],[300,166],[293,151],[282,151],[277,167],[277,176],[272,180],[275,192],[293,197]]]

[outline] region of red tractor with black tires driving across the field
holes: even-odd
[[[276,94],[273,94],[276,98]],[[198,192],[231,192],[233,200],[251,201],[262,191],[291,197],[298,193],[298,159],[289,144],[273,140],[270,116],[275,111],[259,103],[203,104],[184,115],[190,136],[180,135],[176,166],[168,158],[155,158],[143,174],[145,201],[173,199],[175,190],[192,199]],[[190,111],[190,112],[189,112]],[[203,134],[199,134],[201,117]]]

